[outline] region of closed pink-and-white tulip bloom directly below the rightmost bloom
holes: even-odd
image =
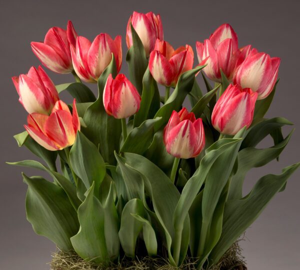
[[[234,135],[242,127],[250,126],[257,92],[240,85],[229,84],[215,103],[211,114],[213,127],[222,134]]]

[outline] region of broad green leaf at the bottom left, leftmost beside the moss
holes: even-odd
[[[27,177],[27,220],[33,230],[53,241],[61,250],[72,249],[70,237],[78,231],[76,211],[63,189],[42,177]]]

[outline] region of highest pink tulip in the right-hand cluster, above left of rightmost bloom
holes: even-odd
[[[219,26],[204,43],[197,41],[196,49],[199,62],[208,57],[207,65],[203,68],[208,78],[220,82],[222,69],[227,79],[232,79],[241,52],[238,49],[237,35],[229,24]]]

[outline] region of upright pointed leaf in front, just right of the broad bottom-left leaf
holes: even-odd
[[[92,184],[78,208],[80,229],[71,237],[71,242],[76,253],[83,259],[98,264],[107,263],[109,258],[104,234],[104,209],[93,193]]]

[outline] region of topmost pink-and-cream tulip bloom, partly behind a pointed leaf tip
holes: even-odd
[[[132,46],[130,23],[138,34],[144,46],[146,57],[148,57],[149,53],[154,48],[156,39],[163,39],[160,15],[155,15],[153,12],[148,12],[146,14],[133,12],[129,17],[126,29],[126,43],[128,48]]]

